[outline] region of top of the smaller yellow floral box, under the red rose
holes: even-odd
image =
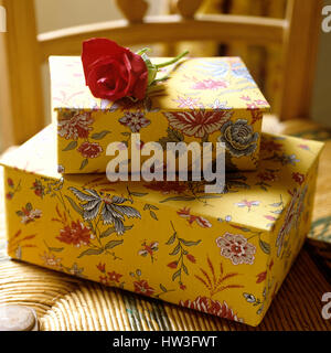
[[[154,63],[167,57],[151,58]],[[57,109],[137,109],[128,98],[116,103],[95,98],[85,85],[79,56],[50,57],[52,104]],[[158,78],[170,75],[139,101],[152,109],[167,111],[188,109],[259,109],[270,107],[239,57],[195,57],[164,67]],[[150,110],[150,109],[148,109]]]

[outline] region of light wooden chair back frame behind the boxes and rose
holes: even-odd
[[[116,0],[124,20],[36,35],[33,0],[0,0],[8,17],[8,32],[0,34],[4,147],[25,141],[44,126],[41,64],[50,55],[79,55],[82,41],[92,36],[107,36],[127,46],[205,40],[281,44],[285,86],[278,115],[282,120],[308,118],[322,1],[288,0],[285,19],[195,14],[202,2],[177,0],[179,14],[146,17],[145,0]]]

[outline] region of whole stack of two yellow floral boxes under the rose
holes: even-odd
[[[2,160],[9,255],[257,325],[309,232],[322,143],[260,131],[269,106],[238,57],[185,58],[115,101],[92,95],[79,57],[50,63],[54,121]],[[139,148],[224,142],[223,192],[110,182],[108,145],[130,151],[136,132]]]

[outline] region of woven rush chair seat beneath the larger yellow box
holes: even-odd
[[[302,121],[285,126],[273,119],[266,122],[265,130],[323,140],[327,147],[321,157],[311,229],[314,240],[306,242],[259,327],[250,328],[10,260],[4,252],[3,204],[0,204],[0,306],[18,303],[34,308],[44,331],[331,331],[331,319],[324,320],[321,314],[322,295],[331,291],[331,131]]]

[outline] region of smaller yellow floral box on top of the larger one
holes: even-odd
[[[159,73],[169,79],[140,101],[94,98],[79,57],[53,56],[50,67],[61,173],[104,172],[107,146],[118,141],[130,153],[132,132],[140,133],[141,143],[162,147],[223,141],[227,170],[257,168],[261,118],[269,105],[239,57],[184,60]]]

